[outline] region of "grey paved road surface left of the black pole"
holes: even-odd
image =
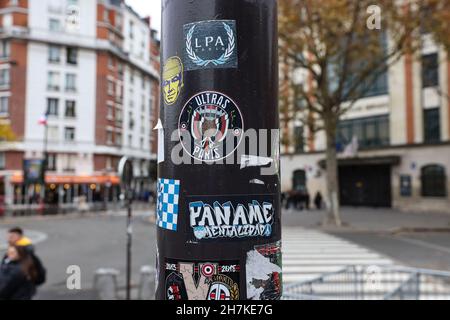
[[[37,253],[48,269],[48,281],[39,290],[38,299],[93,298],[93,278],[97,268],[120,271],[119,286],[125,284],[126,218],[124,216],[21,219],[0,225],[6,229],[20,224],[25,229],[47,235],[37,244]],[[133,222],[133,282],[139,281],[142,265],[155,265],[155,227],[142,217]],[[81,268],[82,290],[66,286],[67,267]]]

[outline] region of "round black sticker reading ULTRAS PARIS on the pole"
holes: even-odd
[[[181,111],[178,124],[183,149],[204,162],[232,154],[241,143],[243,131],[244,122],[236,103],[215,91],[193,96]]]

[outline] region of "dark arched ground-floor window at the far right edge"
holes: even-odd
[[[441,165],[427,165],[421,170],[422,196],[446,197],[447,177],[445,168]]]

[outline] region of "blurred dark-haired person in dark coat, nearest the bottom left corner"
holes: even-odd
[[[0,300],[31,300],[36,294],[37,276],[26,247],[10,246],[0,267]]]

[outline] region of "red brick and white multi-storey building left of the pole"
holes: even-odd
[[[16,136],[0,144],[2,202],[117,199],[123,155],[133,158],[137,191],[148,192],[159,109],[150,19],[122,0],[1,0],[0,39],[0,117]],[[43,192],[25,186],[23,162],[46,152]]]

